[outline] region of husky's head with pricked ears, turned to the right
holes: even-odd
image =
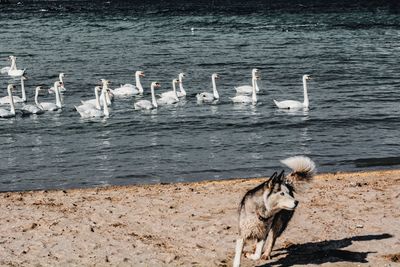
[[[294,210],[299,203],[290,195],[285,185],[283,172],[279,176],[271,177],[264,188],[264,204],[268,211]]]

